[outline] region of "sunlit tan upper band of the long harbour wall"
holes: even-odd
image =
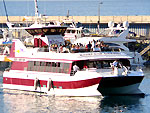
[[[15,23],[33,22],[34,16],[9,16],[9,21]],[[66,16],[43,16],[43,21],[63,21],[67,19]],[[98,16],[69,16],[69,19],[73,19],[75,22],[81,23],[97,23]],[[108,23],[114,21],[115,23],[128,21],[129,23],[150,23],[150,16],[100,16],[100,23]],[[6,23],[6,16],[0,16],[0,23]]]

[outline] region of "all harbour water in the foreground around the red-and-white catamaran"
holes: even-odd
[[[112,97],[55,97],[2,89],[0,75],[0,110],[2,113],[149,113],[150,71],[144,69],[145,78],[140,96]]]

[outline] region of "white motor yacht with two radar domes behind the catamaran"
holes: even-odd
[[[142,58],[140,53],[135,51],[133,48],[131,50],[131,48],[128,47],[129,43],[136,42],[134,39],[127,39],[129,35],[129,23],[125,21],[122,25],[118,24],[117,26],[114,26],[114,23],[110,21],[108,26],[109,28],[104,29],[100,34],[83,36],[74,40],[73,43],[82,43],[87,45],[89,41],[103,41],[104,44],[108,45],[113,51],[121,51],[131,56],[133,59],[130,61],[133,66],[143,66],[145,60]]]

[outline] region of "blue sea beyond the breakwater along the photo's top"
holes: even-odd
[[[34,16],[34,0],[4,0],[8,16]],[[48,16],[149,15],[150,0],[38,0],[39,14]],[[100,7],[100,8],[99,8]],[[5,16],[3,0],[0,16]]]

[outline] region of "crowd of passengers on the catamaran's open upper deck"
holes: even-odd
[[[83,45],[81,43],[77,43],[77,44],[71,44],[71,43],[65,43],[65,44],[52,44],[49,47],[50,51],[56,51],[59,53],[76,53],[76,52],[100,52],[100,51],[105,51],[108,50],[109,46],[104,44],[103,41],[100,40],[93,40],[93,41],[89,41],[88,44]]]

